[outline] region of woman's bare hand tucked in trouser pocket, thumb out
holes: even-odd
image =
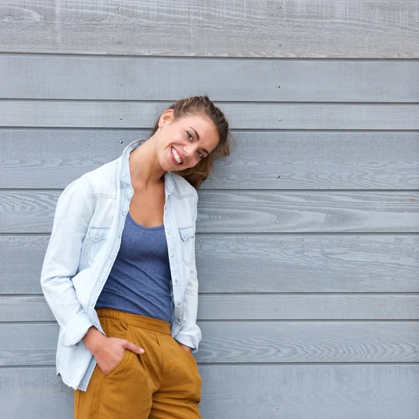
[[[122,360],[126,350],[141,355],[145,352],[140,346],[119,337],[106,337],[94,326],[83,337],[84,344],[93,354],[103,374],[110,371]]]

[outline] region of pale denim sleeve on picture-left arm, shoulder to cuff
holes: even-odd
[[[65,346],[77,344],[93,325],[71,281],[78,270],[82,243],[93,213],[91,186],[85,177],[80,177],[58,199],[41,271],[43,294],[63,328]]]

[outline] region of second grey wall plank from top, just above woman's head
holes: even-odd
[[[406,103],[419,97],[419,63],[405,60],[13,54],[0,56],[0,68],[3,98],[175,101],[207,94],[213,101]]]

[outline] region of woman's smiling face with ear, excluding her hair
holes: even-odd
[[[192,168],[219,143],[216,127],[203,115],[187,115],[173,120],[173,110],[159,119],[157,156],[163,170],[172,172]]]

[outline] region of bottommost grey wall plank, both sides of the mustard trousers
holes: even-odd
[[[203,418],[228,419],[230,413],[242,419],[419,416],[418,365],[198,367]],[[73,419],[73,390],[55,376],[54,367],[3,368],[0,405],[5,418]]]

